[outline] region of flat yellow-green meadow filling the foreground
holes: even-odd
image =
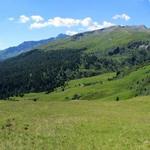
[[[150,97],[1,101],[1,150],[149,150]]]

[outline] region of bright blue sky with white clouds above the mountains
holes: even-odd
[[[150,27],[149,0],[1,0],[0,49],[111,25]]]

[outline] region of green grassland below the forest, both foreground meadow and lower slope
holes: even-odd
[[[2,150],[149,150],[150,66],[0,101]],[[147,92],[144,90],[144,92]]]

